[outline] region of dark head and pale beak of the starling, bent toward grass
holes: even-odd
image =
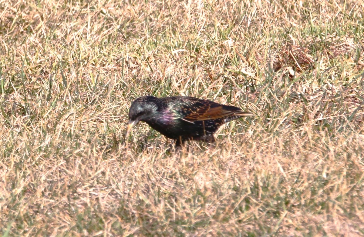
[[[126,129],[127,136],[131,128],[139,121],[148,121],[157,112],[157,104],[154,96],[143,96],[139,97],[131,103],[129,110],[129,123]]]

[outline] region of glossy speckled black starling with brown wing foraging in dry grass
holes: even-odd
[[[174,139],[176,146],[182,146],[187,140],[214,142],[214,133],[219,126],[243,116],[254,115],[235,106],[194,97],[142,96],[131,104],[126,136],[132,126],[143,121],[164,136]]]

